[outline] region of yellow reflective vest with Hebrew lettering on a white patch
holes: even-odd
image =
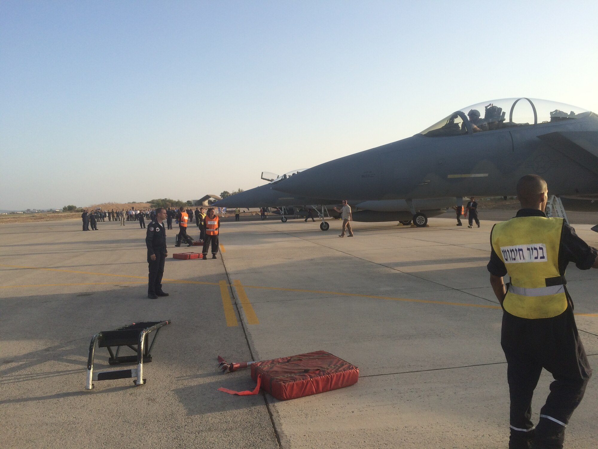
[[[566,310],[565,278],[559,272],[562,230],[563,219],[547,217],[515,217],[493,227],[492,248],[511,277],[502,303],[509,314],[551,318]]]

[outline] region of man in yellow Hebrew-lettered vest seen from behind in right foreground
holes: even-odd
[[[521,209],[490,233],[490,284],[503,308],[501,345],[507,357],[511,397],[509,449],[562,448],[565,427],[584,396],[591,369],[579,339],[565,269],[598,268],[588,246],[561,218],[547,218],[546,181],[526,175],[517,183]],[[504,275],[511,282],[507,289]],[[540,411],[530,420],[533,390],[542,368],[554,381]]]

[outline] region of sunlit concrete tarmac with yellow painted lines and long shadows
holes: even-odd
[[[487,217],[512,216],[500,215]],[[339,238],[335,220],[328,232],[272,216],[227,221],[217,260],[173,259],[200,248],[174,248],[170,230],[170,296],[156,300],[138,223],[0,225],[0,447],[506,448],[502,313],[486,270],[494,222],[468,229],[452,217],[425,229],[354,223],[353,238]],[[598,214],[572,222],[596,224]],[[574,226],[598,246],[591,224]],[[598,272],[570,265],[567,278],[596,366]],[[141,320],[172,320],[144,365],[147,384],[86,391],[91,336]],[[358,366],[358,383],[282,402],[216,390],[255,386],[248,369],[220,374],[218,354],[243,362],[315,350]],[[94,369],[115,369],[104,348]],[[550,380],[544,373],[536,389],[535,421]],[[596,422],[591,380],[565,447],[598,447]]]

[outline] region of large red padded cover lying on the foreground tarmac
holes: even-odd
[[[327,351],[261,360],[251,364],[251,377],[276,399],[302,398],[357,382],[359,369]]]

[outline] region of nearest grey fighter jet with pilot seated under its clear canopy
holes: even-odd
[[[511,196],[535,173],[550,193],[598,199],[598,116],[529,98],[483,102],[419,134],[307,169],[273,186],[368,200]],[[411,208],[415,214],[415,210]]]

